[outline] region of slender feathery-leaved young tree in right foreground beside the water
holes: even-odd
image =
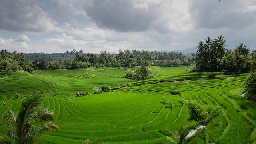
[[[206,125],[214,118],[222,114],[222,108],[218,106],[204,106],[198,102],[198,100],[180,100],[183,104],[188,106],[190,117],[188,118],[189,121],[195,121],[196,125],[199,128],[199,131],[202,133],[204,138],[204,144],[206,144],[206,133],[204,130],[204,126],[201,127],[200,124]]]

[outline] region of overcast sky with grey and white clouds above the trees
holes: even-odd
[[[256,47],[256,0],[0,0],[0,49],[182,50],[224,36]]]

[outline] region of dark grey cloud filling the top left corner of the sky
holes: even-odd
[[[48,32],[56,22],[39,7],[41,0],[0,0],[0,29],[15,32]]]

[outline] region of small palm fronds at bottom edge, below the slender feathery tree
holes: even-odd
[[[190,133],[190,130],[192,130],[193,128],[180,128],[179,130],[179,135],[178,137],[175,137],[174,133],[172,133],[170,130],[166,129],[167,131],[169,131],[172,136],[175,137],[175,139],[166,136],[167,140],[170,140],[173,144],[188,144],[192,138],[195,137],[195,135],[193,136],[188,136],[188,134]]]

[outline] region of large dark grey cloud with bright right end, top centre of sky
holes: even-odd
[[[74,14],[86,14],[100,28],[120,32],[153,29],[166,33],[192,28],[188,0],[62,0],[60,4]]]

